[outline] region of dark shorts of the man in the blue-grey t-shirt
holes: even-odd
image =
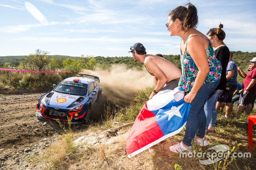
[[[226,90],[222,92],[222,94],[219,96],[218,101],[222,103],[232,103],[232,97],[233,93],[237,89],[236,85],[227,85]]]

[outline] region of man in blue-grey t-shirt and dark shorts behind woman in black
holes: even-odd
[[[228,62],[228,66],[226,69],[226,78],[227,78],[227,88],[226,90],[224,90],[222,92],[222,94],[220,95],[217,105],[216,105],[216,109],[217,111],[220,110],[221,104],[223,102],[226,103],[226,114],[225,117],[229,118],[229,115],[233,109],[233,104],[232,104],[232,96],[233,93],[235,92],[236,88],[237,88],[237,65],[236,63],[233,61],[233,53],[230,52],[230,56],[229,56],[229,62]]]

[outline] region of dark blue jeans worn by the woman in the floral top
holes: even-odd
[[[191,146],[192,139],[195,137],[204,137],[206,116],[204,112],[204,104],[209,94],[219,85],[220,81],[205,83],[196,93],[196,97],[191,102],[191,108],[188,114],[185,136],[183,144]]]

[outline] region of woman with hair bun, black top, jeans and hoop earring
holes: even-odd
[[[220,84],[218,87],[208,96],[204,111],[206,115],[206,126],[205,134],[216,133],[215,126],[217,120],[217,110],[220,109],[221,103],[217,103],[217,100],[221,93],[226,89],[227,78],[226,78],[226,68],[229,61],[229,49],[224,44],[223,40],[226,37],[225,32],[222,30],[223,25],[220,23],[219,28],[212,28],[206,33],[207,38],[212,41],[212,46],[214,47],[214,53],[216,58],[220,61],[222,65]]]

